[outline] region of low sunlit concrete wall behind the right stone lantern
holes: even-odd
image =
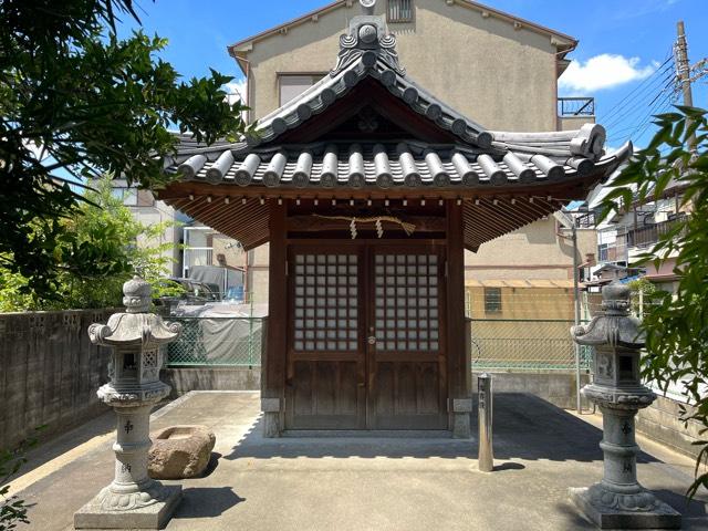
[[[691,412],[691,406],[686,406]],[[673,449],[691,457],[698,457],[700,446],[693,442],[705,439],[700,436],[704,429],[700,423],[690,420],[685,425],[680,420],[680,403],[671,398],[658,396],[656,402],[637,415],[637,430],[647,435],[657,442],[662,442]]]

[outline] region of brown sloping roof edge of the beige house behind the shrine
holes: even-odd
[[[577,39],[575,39],[574,37],[571,37],[566,33],[562,33],[560,31],[555,31],[552,30],[550,28],[546,28],[544,25],[538,24],[535,22],[531,22],[529,20],[522,19],[520,17],[517,17],[514,14],[511,13],[507,13],[504,11],[494,9],[494,8],[490,8],[489,6],[485,6],[482,3],[479,2],[475,2],[471,0],[449,0],[452,1],[454,3],[460,4],[462,7],[469,8],[469,9],[475,9],[480,11],[483,15],[486,17],[494,17],[501,20],[507,20],[511,23],[514,24],[514,28],[520,29],[520,28],[528,28],[531,31],[541,33],[541,34],[546,34],[550,38],[555,40],[555,44],[559,46],[559,51],[562,52],[561,55],[559,55],[559,59],[563,59],[563,56],[569,53],[570,51],[572,51],[576,45],[577,45]],[[248,37],[246,39],[241,39],[238,42],[235,42],[233,44],[230,44],[227,46],[227,50],[229,51],[229,55],[231,55],[232,58],[237,59],[237,61],[239,59],[241,59],[240,55],[246,55],[243,50],[239,50],[244,45],[250,45],[253,42],[257,41],[261,41],[263,39],[268,39],[269,37],[275,35],[275,34],[280,34],[283,31],[287,31],[288,28],[292,28],[295,25],[300,25],[300,24],[304,24],[306,22],[311,22],[311,21],[316,21],[319,17],[329,13],[331,11],[334,11],[336,9],[343,8],[343,7],[350,7],[352,6],[353,0],[337,0],[331,3],[327,3],[326,6],[323,6],[322,8],[315,9],[313,11],[310,11],[305,14],[302,14],[301,17],[298,17],[295,19],[289,20],[288,22],[283,22],[282,24],[275,25],[273,28],[270,28],[268,30],[261,31],[260,33],[257,33],[254,35]],[[239,65],[242,64],[239,62]]]

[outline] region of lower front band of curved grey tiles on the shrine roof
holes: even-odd
[[[585,136],[597,126],[586,128]],[[574,133],[573,133],[574,134]],[[497,135],[494,133],[494,135]],[[516,150],[483,153],[464,145],[417,142],[310,144],[268,148],[220,147],[199,150],[173,165],[184,180],[281,188],[496,187],[543,185],[614,169],[631,153],[631,145],[610,156],[574,155],[570,144],[583,135],[542,148],[499,136]],[[580,149],[579,149],[580,150]],[[539,153],[541,152],[541,153]]]

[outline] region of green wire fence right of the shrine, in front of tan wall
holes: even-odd
[[[471,319],[473,371],[571,371],[575,368],[573,321]],[[592,350],[581,346],[581,369]]]

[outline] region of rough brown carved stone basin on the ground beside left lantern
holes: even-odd
[[[207,468],[216,442],[207,426],[169,426],[150,434],[148,473],[154,479],[184,479]]]

